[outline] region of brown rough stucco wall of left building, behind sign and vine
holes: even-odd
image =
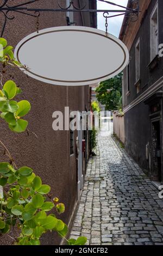
[[[14,1],[14,3],[20,3],[20,1]],[[65,3],[65,1],[60,0],[60,3]],[[57,1],[42,0],[39,1],[39,4],[33,4],[33,7],[38,7],[38,5],[39,8],[57,8]],[[15,14],[15,16],[16,19],[7,23],[3,35],[12,46],[16,46],[24,36],[36,31],[35,18],[21,14]],[[0,23],[2,20],[3,16],[1,15]],[[39,20],[40,29],[64,26],[66,25],[66,14],[42,13]],[[79,17],[77,25],[80,25],[80,22]],[[50,56],[48,45],[47,54]],[[67,62],[66,59],[65,61]],[[77,65],[77,63],[74,63],[74,65]],[[77,202],[76,156],[74,155],[70,158],[69,131],[53,131],[52,113],[54,111],[64,112],[65,106],[70,106],[71,110],[82,111],[82,109],[85,110],[85,105],[87,105],[89,109],[89,87],[67,88],[53,86],[30,77],[27,78],[18,69],[9,68],[7,74],[4,75],[3,82],[10,78],[10,75],[14,75],[14,81],[23,90],[23,94],[17,96],[17,100],[29,100],[32,105],[32,109],[26,119],[29,121],[28,128],[35,132],[38,138],[32,133],[29,136],[25,132],[17,135],[11,132],[7,124],[2,120],[0,120],[0,138],[7,145],[17,166],[27,165],[32,167],[34,172],[41,176],[43,183],[52,187],[52,196],[59,197],[60,201],[65,203],[66,212],[60,218],[68,224],[74,205]],[[1,154],[0,161],[3,160],[4,158]],[[11,235],[15,235],[15,233]],[[56,239],[55,233],[48,233],[43,237],[42,244],[58,244],[59,241],[60,239]],[[0,244],[6,243],[12,243],[12,240],[8,237],[0,237]]]

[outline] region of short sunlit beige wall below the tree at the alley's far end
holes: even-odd
[[[124,136],[124,116],[113,112],[113,132],[117,135],[121,142],[125,142]]]

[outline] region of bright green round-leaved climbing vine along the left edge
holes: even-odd
[[[15,100],[22,90],[14,81],[2,83],[3,70],[7,65],[23,68],[14,58],[12,50],[7,40],[0,38],[0,112],[9,129],[21,133],[28,131],[28,121],[23,118],[30,111],[30,103]],[[65,205],[49,194],[51,187],[42,184],[40,176],[35,175],[32,168],[17,167],[7,147],[2,141],[0,144],[9,159],[0,163],[0,234],[8,234],[11,227],[16,225],[20,229],[17,239],[13,238],[16,245],[40,245],[40,237],[47,231],[55,231],[68,245],[84,245],[86,237],[66,239],[67,225],[55,216],[55,212],[59,215],[65,212]]]

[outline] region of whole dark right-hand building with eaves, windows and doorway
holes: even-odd
[[[131,22],[124,17],[120,32],[120,39],[130,54],[123,73],[125,145],[149,177],[163,184],[163,59],[159,57],[159,45],[163,42],[163,1],[140,0],[139,3],[139,19]],[[131,1],[128,7],[130,4]]]

